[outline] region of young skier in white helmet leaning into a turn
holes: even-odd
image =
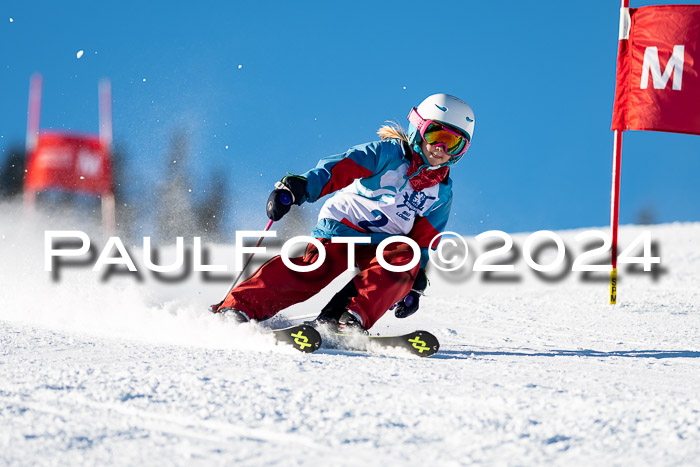
[[[323,308],[316,322],[340,331],[366,331],[392,306],[397,317],[413,314],[428,284],[428,247],[444,230],[450,214],[450,166],[469,148],[474,113],[454,96],[434,94],[411,109],[408,120],[408,132],[397,124],[383,126],[378,131],[381,141],[321,159],[305,174],[277,182],[267,202],[267,215],[273,221],[289,212],[291,204],[335,193],[321,208],[311,234],[324,246],[323,265],[295,272],[276,256],[210,311],[240,322],[268,319],[316,295],[343,273],[353,248],[360,273]],[[420,264],[409,271],[385,269],[375,257],[377,245],[395,235],[408,236],[421,248]],[[358,236],[369,237],[371,243],[353,246],[332,241]],[[437,243],[432,246],[436,248]],[[310,243],[304,255],[291,262],[307,266],[319,254]],[[393,266],[404,266],[413,259],[413,250],[405,243],[391,243],[383,258]]]

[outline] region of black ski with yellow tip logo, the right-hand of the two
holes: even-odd
[[[400,336],[366,336],[362,334],[333,334],[338,347],[348,350],[401,348],[419,357],[430,357],[440,349],[437,337],[428,331],[413,331]]]

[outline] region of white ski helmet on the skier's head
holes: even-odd
[[[421,130],[427,121],[436,121],[445,123],[462,133],[467,142],[471,143],[472,135],[474,134],[474,111],[472,108],[461,99],[449,94],[433,94],[428,96],[418,107],[411,109],[408,114],[408,137],[411,145],[418,147],[417,152],[421,155],[420,143]],[[466,151],[465,151],[466,152]],[[457,163],[464,154],[452,157],[443,165],[452,165]],[[425,156],[423,156],[425,159]]]

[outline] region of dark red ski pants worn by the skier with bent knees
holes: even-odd
[[[249,318],[264,320],[296,303],[316,295],[348,268],[348,247],[344,243],[331,243],[319,239],[326,250],[323,265],[310,272],[289,269],[276,256],[258,268],[226,297],[222,307],[233,307],[245,312]],[[354,245],[355,264],[360,273],[353,281],[359,294],[352,298],[348,309],[362,318],[365,329],[372,327],[386,311],[410,292],[419,266],[406,272],[392,272],[383,268],[375,257],[376,245]],[[307,245],[304,255],[290,258],[295,265],[314,263],[319,252]],[[392,243],[384,249],[384,260],[393,266],[411,262],[413,250],[403,243]],[[320,312],[320,310],[319,310]]]

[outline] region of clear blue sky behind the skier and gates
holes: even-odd
[[[476,114],[450,230],[605,226],[618,15],[617,1],[4,0],[0,158],[23,144],[31,73],[44,77],[42,128],[88,132],[109,77],[129,196],[163,183],[170,135],[186,130],[193,196],[222,173],[237,228],[261,228],[286,172],[377,139],[385,120],[406,126],[447,92]],[[700,137],[626,132],[620,222],[643,209],[700,220],[698,174]]]

